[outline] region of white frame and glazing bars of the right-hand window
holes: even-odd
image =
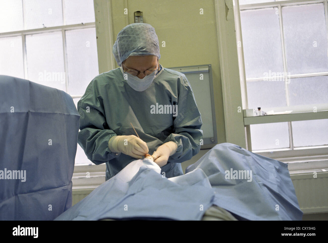
[[[237,48],[238,55],[240,57],[240,81],[241,86],[243,87],[243,109],[244,109],[244,125],[247,133],[247,143],[248,149],[251,151],[251,141],[250,141],[250,124],[261,124],[261,123],[272,123],[272,122],[288,122],[289,126],[289,140],[291,148],[283,148],[283,149],[268,149],[268,150],[253,150],[253,152],[277,159],[279,161],[290,161],[297,160],[311,160],[311,159],[327,159],[327,151],[328,146],[309,146],[302,148],[294,148],[293,140],[292,140],[292,130],[291,130],[291,121],[302,121],[302,120],[314,120],[314,119],[327,119],[328,118],[328,103],[325,104],[317,104],[318,112],[314,113],[313,105],[302,105],[302,106],[287,106],[287,107],[275,107],[273,108],[275,111],[286,111],[293,110],[291,114],[282,114],[282,115],[270,115],[270,116],[260,116],[260,117],[246,117],[245,110],[248,109],[247,104],[247,91],[246,91],[246,80],[247,81],[257,81],[262,78],[254,78],[254,79],[246,79],[245,77],[245,67],[244,67],[244,57],[243,57],[243,49],[242,49],[242,36],[241,36],[241,25],[240,25],[240,10],[244,9],[261,9],[261,8],[269,8],[269,7],[277,7],[279,11],[279,26],[280,26],[280,35],[281,35],[281,45],[282,45],[282,55],[283,55],[283,67],[284,72],[287,72],[286,66],[286,55],[285,55],[285,45],[283,38],[283,30],[282,30],[282,15],[281,8],[283,6],[291,6],[291,5],[302,5],[302,4],[314,4],[314,3],[323,3],[324,11],[325,11],[325,20],[326,27],[328,26],[328,18],[327,18],[327,0],[290,0],[290,1],[279,1],[279,2],[269,2],[269,3],[259,3],[259,4],[248,4],[248,5],[238,5],[238,0],[235,0],[235,15],[236,15],[236,36],[237,43],[241,42],[241,48]],[[326,33],[328,30],[326,29]],[[328,36],[328,34],[327,34]],[[287,78],[298,78],[298,77],[315,77],[328,75],[328,72],[322,73],[311,73],[311,74],[302,74],[302,75],[290,75],[286,76]],[[285,82],[285,88],[288,90],[287,82]],[[287,94],[287,92],[286,92]],[[287,105],[289,105],[288,97],[286,97]]]

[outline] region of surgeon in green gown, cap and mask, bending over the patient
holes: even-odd
[[[189,81],[159,64],[149,24],[124,27],[113,54],[120,67],[96,76],[77,103],[78,144],[94,164],[106,163],[106,181],[146,153],[165,177],[183,175],[181,163],[199,152],[203,138]]]

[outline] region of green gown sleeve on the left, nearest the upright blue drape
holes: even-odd
[[[98,97],[99,88],[93,79],[77,103],[77,110],[81,116],[77,143],[83,148],[88,159],[96,165],[120,155],[108,148],[109,139],[116,136],[116,133],[108,127],[104,104]]]

